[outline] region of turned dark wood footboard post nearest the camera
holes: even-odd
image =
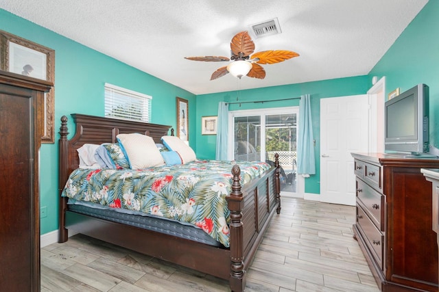
[[[227,206],[230,210],[230,289],[234,292],[244,291],[246,279],[244,275],[244,230],[242,227],[242,210],[244,198],[239,184],[241,170],[238,165],[232,168],[232,192],[226,196]]]

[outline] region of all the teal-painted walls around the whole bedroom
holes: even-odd
[[[320,157],[320,98],[364,94],[370,88],[372,76],[386,77],[386,94],[394,88],[407,90],[417,83],[430,88],[430,138],[438,147],[439,133],[439,1],[429,1],[412,23],[403,31],[375,68],[365,76],[349,77],[195,96],[151,75],[132,68],[107,55],[64,38],[0,10],[0,29],[32,40],[56,51],[55,118],[56,132],[62,115],[71,113],[104,115],[104,83],[136,90],[153,96],[151,122],[176,126],[176,96],[189,101],[189,143],[201,159],[215,158],[215,135],[201,135],[201,117],[216,116],[219,101],[274,100],[311,94],[313,132],[316,157]],[[215,81],[212,81],[215,82]],[[264,104],[231,105],[230,110],[257,109],[298,105],[298,100]],[[70,137],[73,135],[71,123]],[[195,133],[195,135],[193,135]],[[56,140],[58,140],[58,133]],[[41,233],[58,228],[58,143],[43,144],[40,150],[40,202],[47,206],[47,217],[41,220]],[[317,158],[316,170],[320,168]],[[320,174],[306,179],[305,191],[320,194]]]

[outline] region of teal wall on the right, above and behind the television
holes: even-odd
[[[439,1],[430,0],[392,47],[372,68],[369,77],[385,76],[386,94],[404,92],[418,83],[429,86],[430,144],[439,148]]]

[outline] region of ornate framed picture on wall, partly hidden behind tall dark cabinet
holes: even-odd
[[[0,69],[55,84],[55,51],[0,30]],[[55,88],[45,94],[43,143],[54,143]]]

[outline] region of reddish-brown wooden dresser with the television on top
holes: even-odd
[[[431,229],[431,183],[421,168],[439,159],[352,154],[355,238],[381,291],[438,291],[438,246]]]

